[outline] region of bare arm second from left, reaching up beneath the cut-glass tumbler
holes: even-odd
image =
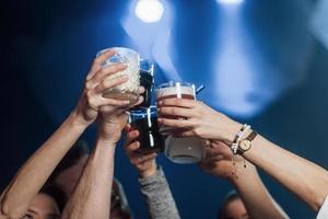
[[[114,175],[115,147],[127,123],[127,108],[101,108],[95,149],[65,207],[62,218],[108,219]]]

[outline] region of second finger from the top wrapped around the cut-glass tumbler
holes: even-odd
[[[125,64],[112,64],[96,71],[86,82],[86,88],[91,89],[104,81],[106,77],[122,71],[127,68]]]

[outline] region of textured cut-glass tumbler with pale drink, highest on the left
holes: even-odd
[[[130,101],[131,104],[137,103],[139,100],[139,85],[140,85],[140,56],[137,51],[125,48],[125,47],[113,47],[101,50],[97,53],[97,57],[103,53],[114,49],[116,54],[109,57],[104,64],[103,67],[113,65],[113,64],[125,64],[127,68],[122,71],[119,71],[115,74],[108,76],[110,79],[116,79],[121,76],[127,74],[129,80],[122,84],[119,84],[115,88],[108,89],[104,93],[104,97],[107,99],[116,99],[116,100],[125,100]]]

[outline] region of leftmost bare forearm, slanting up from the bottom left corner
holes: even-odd
[[[86,127],[71,114],[52,136],[26,161],[1,196],[1,212],[21,218],[56,165]]]

